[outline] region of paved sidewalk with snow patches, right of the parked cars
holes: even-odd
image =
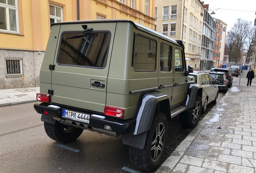
[[[247,87],[246,74],[156,173],[256,173],[256,79]]]

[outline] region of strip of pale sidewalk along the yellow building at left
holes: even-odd
[[[0,90],[0,107],[35,102],[39,87]]]

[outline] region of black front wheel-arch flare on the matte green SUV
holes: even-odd
[[[194,107],[197,95],[202,98],[202,87],[200,87],[200,85],[198,84],[190,84],[190,86],[188,87],[188,94],[185,102],[187,110]]]

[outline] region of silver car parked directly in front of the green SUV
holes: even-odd
[[[210,74],[205,71],[194,71],[193,73],[189,73],[188,76],[202,86],[202,113],[204,113],[209,103],[213,102],[216,104],[219,95],[219,89],[216,84],[220,84],[220,82],[214,80]]]

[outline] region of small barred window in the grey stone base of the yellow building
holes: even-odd
[[[5,58],[6,76],[23,76],[22,58]]]

